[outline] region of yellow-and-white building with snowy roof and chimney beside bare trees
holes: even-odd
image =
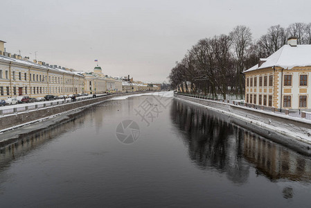
[[[245,73],[245,102],[268,107],[310,108],[311,45],[287,44]]]

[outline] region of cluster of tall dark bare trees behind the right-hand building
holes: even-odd
[[[298,44],[311,44],[311,23],[271,26],[255,41],[247,26],[236,26],[229,35],[204,38],[172,68],[170,83],[181,92],[222,94],[224,98],[229,91],[243,94],[242,71],[272,55],[292,36],[298,37]]]

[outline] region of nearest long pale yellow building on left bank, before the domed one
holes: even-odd
[[[0,98],[16,96],[43,97],[47,94],[80,94],[84,76],[57,65],[29,61],[21,55],[3,52],[0,41]]]

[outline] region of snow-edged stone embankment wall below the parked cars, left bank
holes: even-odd
[[[0,116],[0,132],[11,130],[12,128],[19,128],[22,125],[28,125],[33,122],[37,122],[40,119],[48,119],[50,116],[55,116],[57,114],[62,114],[71,110],[77,110],[83,107],[89,107],[90,105],[95,105],[96,103],[101,103],[107,101],[110,98],[116,96],[127,96],[131,94],[144,94],[150,92],[132,92],[126,94],[111,94],[107,96],[100,96],[97,98],[91,98],[84,101],[75,101],[71,103],[64,103],[62,105],[48,106],[44,108],[39,108],[36,110],[29,110],[26,112],[17,112],[15,114],[8,114],[5,116]],[[1,139],[0,139],[1,140]]]

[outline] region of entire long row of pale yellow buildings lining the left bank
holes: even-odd
[[[22,58],[4,52],[0,40],[0,99],[17,96],[33,98],[46,95],[102,94],[157,90],[157,86],[139,83],[125,83],[122,78],[103,74],[98,65],[94,71],[74,71],[46,62]]]

